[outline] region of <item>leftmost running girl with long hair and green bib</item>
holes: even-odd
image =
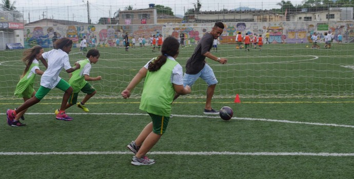
[[[33,89],[33,83],[35,80],[35,76],[37,75],[42,75],[43,71],[40,70],[39,68],[39,63],[38,59],[40,59],[40,56],[44,53],[43,48],[41,46],[34,46],[30,49],[27,49],[24,51],[23,55],[24,57],[22,58],[22,61],[25,62],[26,68],[24,73],[21,76],[21,79],[16,85],[15,89],[15,96],[19,98],[23,98],[24,101],[26,102],[30,98],[32,98],[36,92]],[[26,110],[23,110],[19,112],[15,119],[12,121],[11,126],[25,126],[26,124],[23,124],[19,122],[19,118],[25,119],[23,116],[26,113]]]

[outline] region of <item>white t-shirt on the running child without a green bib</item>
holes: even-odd
[[[59,74],[62,69],[71,69],[69,55],[62,49],[53,49],[42,56],[47,60],[48,69],[42,75],[41,86],[53,89],[61,80]]]

